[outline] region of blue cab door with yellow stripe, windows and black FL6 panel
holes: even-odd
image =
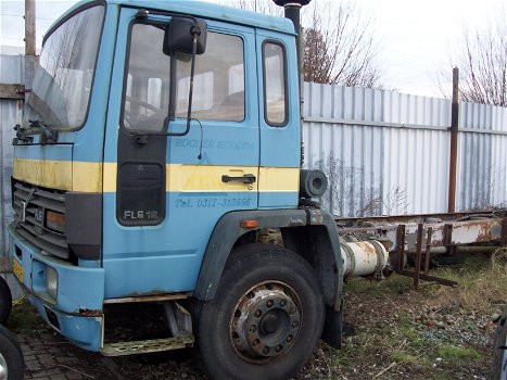
[[[165,136],[187,126],[190,56],[163,53],[169,17],[136,13],[121,11],[110,93],[106,297],[192,291],[217,220],[258,202],[253,30],[206,21],[190,130]]]

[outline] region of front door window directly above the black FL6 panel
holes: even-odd
[[[159,131],[169,106],[170,58],[162,51],[164,28],[134,24],[124,85],[123,126]]]

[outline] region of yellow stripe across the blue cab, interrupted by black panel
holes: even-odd
[[[103,181],[102,181],[103,169]],[[252,190],[248,183],[223,182],[221,176],[241,177],[253,174],[257,181]],[[14,159],[13,176],[33,185],[51,189],[86,192],[115,192],[117,164],[69,161]],[[172,192],[293,192],[299,191],[300,169],[296,167],[166,165],[166,191]]]

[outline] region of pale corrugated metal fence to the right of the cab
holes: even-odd
[[[507,206],[507,109],[460,103],[457,210]],[[305,84],[305,166],[334,215],[447,211],[451,101]]]

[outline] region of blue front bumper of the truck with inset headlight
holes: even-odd
[[[104,270],[74,266],[53,256],[21,237],[14,225],[8,227],[9,259],[28,301],[58,332],[88,351],[102,347]],[[98,265],[98,264],[97,264]],[[46,283],[48,268],[58,273],[56,297]]]

